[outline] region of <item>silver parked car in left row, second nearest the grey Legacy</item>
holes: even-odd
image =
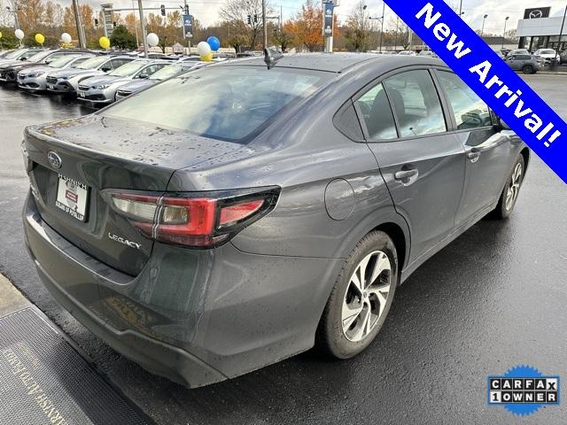
[[[136,80],[145,80],[164,66],[167,60],[137,59],[120,66],[108,75],[90,77],[79,83],[77,98],[90,104],[112,104],[120,86]]]

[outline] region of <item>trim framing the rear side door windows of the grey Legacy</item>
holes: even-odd
[[[402,67],[396,68],[396,69],[394,69],[394,70],[392,70],[388,73],[384,73],[384,74],[380,75],[379,77],[377,77],[376,79],[370,81],[364,87],[359,89],[353,95],[353,97],[351,97],[353,104],[354,104],[354,111],[358,115],[358,120],[361,123],[361,127],[362,127],[362,134],[364,135],[366,143],[396,143],[396,142],[402,142],[402,141],[406,141],[406,140],[420,139],[420,138],[423,138],[423,137],[434,137],[434,136],[447,135],[449,133],[454,133],[454,130],[450,129],[450,128],[454,128],[452,126],[452,122],[450,121],[450,119],[447,118],[447,103],[446,103],[445,97],[443,97],[439,94],[439,88],[436,85],[435,79],[431,75],[431,69],[433,67],[439,67],[440,69],[447,69],[447,70],[450,69],[450,68],[448,68],[448,67],[446,68],[444,66],[431,66],[431,65],[402,66]],[[418,71],[418,70],[427,71],[430,74],[431,80],[433,81],[433,86],[435,87],[435,90],[437,91],[437,95],[439,97],[439,103],[441,104],[441,111],[443,112],[443,119],[445,120],[446,130],[440,131],[438,133],[431,133],[431,134],[426,134],[426,135],[411,135],[411,136],[401,137],[400,136],[400,125],[399,125],[398,117],[396,116],[396,113],[392,108],[392,100],[390,98],[390,95],[388,94],[388,89],[386,89],[386,87],[384,85],[384,80],[392,77],[393,75],[397,75],[398,73],[406,73],[408,71]],[[395,139],[384,139],[384,140],[372,140],[372,139],[370,139],[368,128],[366,127],[366,122],[364,122],[364,117],[361,114],[361,111],[358,108],[358,105],[356,104],[356,101],[358,99],[360,99],[362,96],[364,96],[370,89],[376,87],[379,83],[382,83],[382,87],[383,87],[383,89],[386,93],[386,97],[388,97],[388,103],[390,104],[390,109],[392,110],[393,119],[394,119],[394,122],[396,124],[396,132],[398,133],[398,137],[395,138]]]

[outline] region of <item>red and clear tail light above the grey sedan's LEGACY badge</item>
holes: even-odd
[[[279,188],[201,193],[143,193],[106,189],[114,212],[146,237],[193,248],[212,248],[276,206]]]

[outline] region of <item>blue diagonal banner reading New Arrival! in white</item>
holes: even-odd
[[[567,125],[443,0],[385,0],[563,182]]]

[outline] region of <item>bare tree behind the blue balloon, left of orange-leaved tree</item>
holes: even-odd
[[[271,13],[269,4],[266,8],[267,14]],[[254,50],[262,31],[262,0],[227,0],[221,7],[220,14],[221,19],[229,24],[231,36],[247,37],[250,48]],[[243,30],[245,34],[239,34]]]

